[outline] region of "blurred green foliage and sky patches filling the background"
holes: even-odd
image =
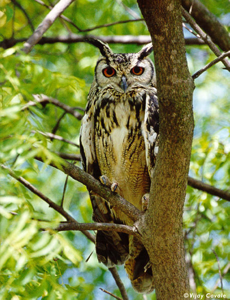
[[[48,10],[29,0],[18,0],[36,28]],[[208,8],[224,17],[224,1],[203,1]],[[49,1],[46,1],[49,4]],[[123,4],[140,15],[136,1]],[[0,1],[0,41],[29,37],[32,28],[20,7],[9,0]],[[124,6],[112,0],[75,1],[64,13],[80,28],[131,18]],[[72,25],[57,19],[46,36],[78,33]],[[89,32],[91,33],[91,32]],[[143,22],[130,22],[92,31],[95,35],[148,34]],[[79,153],[77,146],[42,135],[52,132],[63,110],[51,103],[37,104],[33,94],[46,94],[72,107],[85,107],[93,78],[98,50],[86,43],[36,45],[26,55],[18,43],[0,49],[0,160],[35,185],[57,204],[61,203],[66,175],[49,166],[57,159],[55,151]],[[114,44],[114,51],[137,51],[140,46]],[[188,46],[187,59],[191,73],[214,59],[206,46]],[[229,139],[227,74],[221,62],[209,68],[195,81],[195,131],[190,175],[216,187],[229,186]],[[81,110],[79,110],[81,112]],[[65,114],[56,134],[79,143],[80,121]],[[34,157],[40,156],[45,164]],[[80,163],[78,163],[80,165]],[[64,220],[6,170],[0,169],[0,299],[109,299],[103,287],[119,294],[106,267],[99,264],[94,249],[81,232],[57,233],[53,229]],[[92,208],[85,186],[68,179],[64,208],[79,222],[91,222]],[[185,248],[191,259],[197,292],[212,290],[218,279],[216,255],[223,273],[227,265],[226,201],[188,187],[184,212]],[[49,228],[49,229],[47,229]],[[53,229],[52,229],[53,228]],[[216,255],[215,255],[216,254]],[[120,266],[121,278],[130,299],[136,294]],[[223,287],[227,286],[227,275]],[[221,292],[220,284],[216,292]],[[154,300],[155,294],[147,295]]]

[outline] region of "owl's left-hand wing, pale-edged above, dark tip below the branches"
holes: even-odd
[[[80,131],[80,152],[83,168],[86,172],[99,180],[101,171],[96,157],[94,144],[94,117],[86,112]],[[90,200],[93,207],[93,220],[96,222],[121,223],[114,218],[108,202],[89,190]],[[126,233],[113,231],[97,231],[96,253],[99,262],[108,267],[114,264],[122,264],[128,257],[129,239]]]

